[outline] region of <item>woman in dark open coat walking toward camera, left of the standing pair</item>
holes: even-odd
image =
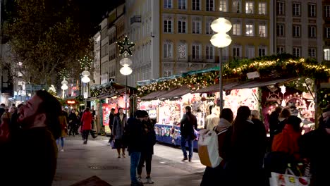
[[[117,149],[118,158],[125,158],[125,145],[123,144],[123,132],[126,129],[127,118],[123,113],[123,109],[119,108],[117,115],[114,117],[114,126],[112,132],[114,135],[114,144]]]

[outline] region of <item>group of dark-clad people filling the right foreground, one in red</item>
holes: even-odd
[[[258,111],[240,106],[233,118],[231,109],[223,109],[215,128],[217,133],[226,129],[218,135],[223,161],[205,169],[200,185],[269,185],[271,172],[284,174],[289,166],[295,175],[310,178],[310,185],[330,185],[330,106],[317,130],[302,135],[300,123],[290,109],[276,108],[269,117],[267,140]]]

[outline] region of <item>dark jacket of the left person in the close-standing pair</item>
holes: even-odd
[[[128,152],[142,152],[143,149],[143,125],[137,118],[129,118],[127,121],[126,142]]]

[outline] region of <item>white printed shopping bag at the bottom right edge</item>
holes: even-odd
[[[269,179],[270,186],[306,186],[310,185],[310,178],[305,176],[296,176],[291,168],[286,169],[285,174],[271,172]]]

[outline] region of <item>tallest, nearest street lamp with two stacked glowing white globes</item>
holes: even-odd
[[[220,63],[220,69],[219,69],[219,87],[220,87],[220,111],[224,109],[224,85],[222,81],[222,71],[223,71],[223,63],[221,61],[222,56],[222,48],[228,46],[231,44],[231,37],[226,34],[229,30],[231,30],[231,22],[229,20],[226,20],[225,18],[218,18],[214,20],[211,24],[211,28],[214,32],[217,32],[215,35],[213,35],[210,39],[210,42],[213,46],[216,46],[220,49],[219,54],[219,63]]]

